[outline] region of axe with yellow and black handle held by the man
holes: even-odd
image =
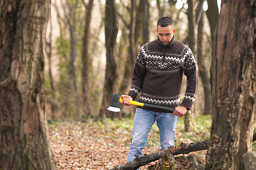
[[[107,110],[109,111],[112,111],[112,112],[120,112],[120,108],[118,106],[118,101],[122,101],[122,98],[120,98],[119,94],[114,94],[113,98],[112,98],[112,103],[110,105],[110,107],[107,108]],[[173,113],[174,112],[174,108],[169,108],[169,107],[166,107],[166,106],[159,106],[159,105],[154,105],[154,104],[149,104],[149,103],[141,103],[141,102],[138,102],[138,101],[132,101],[132,100],[129,100],[130,103],[132,105],[135,105],[135,106],[146,106],[148,108],[158,108],[158,109],[161,109],[161,110],[164,110],[164,111],[169,111],[170,113]],[[186,111],[186,113],[190,113],[191,111]]]

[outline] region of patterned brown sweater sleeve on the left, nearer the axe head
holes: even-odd
[[[137,97],[140,91],[142,91],[142,86],[144,82],[144,77],[146,75],[146,62],[144,61],[145,45],[139,50],[137,60],[134,65],[134,71],[132,76],[132,84],[128,91],[128,96],[131,96],[133,100]]]

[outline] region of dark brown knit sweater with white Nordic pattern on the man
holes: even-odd
[[[186,94],[180,101],[183,73],[188,80]],[[139,102],[190,109],[198,89],[198,73],[193,53],[182,42],[172,38],[168,44],[159,38],[142,46],[137,56],[132,85],[127,95],[133,99],[141,92]],[[142,108],[141,106],[137,106]],[[166,112],[154,108],[149,111]]]

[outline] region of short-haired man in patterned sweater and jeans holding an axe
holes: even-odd
[[[161,149],[174,147],[177,117],[185,115],[195,101],[198,89],[198,73],[193,53],[174,38],[176,29],[169,17],[159,18],[156,33],[158,38],[143,45],[134,66],[131,88],[127,95],[122,95],[124,106],[130,106],[141,93],[139,101],[175,108],[174,113],[137,106],[132,130],[127,162],[142,157],[142,149],[155,120],[159,128]],[[188,86],[183,101],[180,102],[181,81],[183,74],[188,79]]]

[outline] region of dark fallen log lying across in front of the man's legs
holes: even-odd
[[[256,140],[256,131],[253,132],[252,142],[254,142],[255,140]],[[145,154],[142,157],[137,157],[132,162],[114,166],[114,168],[111,170],[131,170],[131,169],[136,170],[140,166],[144,166],[149,162],[154,162],[156,160],[163,158],[166,154],[173,154],[173,155],[188,154],[190,152],[206,150],[208,149],[208,145],[209,145],[209,140],[203,140],[202,142],[189,143],[189,144],[182,143],[177,147],[171,147],[169,149],[165,149],[159,152],[154,152],[152,154]]]

